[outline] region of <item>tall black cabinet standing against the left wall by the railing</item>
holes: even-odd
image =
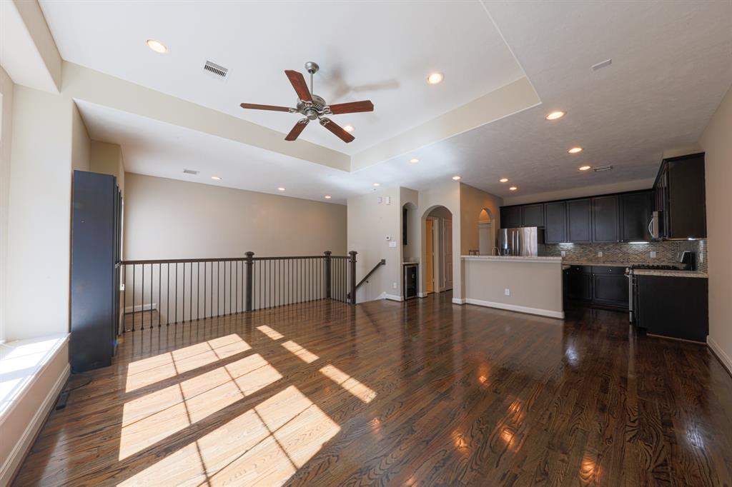
[[[122,194],[112,175],[74,171],[71,223],[71,339],[74,372],[109,366],[119,317]]]

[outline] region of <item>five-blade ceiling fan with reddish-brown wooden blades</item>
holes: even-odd
[[[305,126],[310,123],[311,120],[318,119],[320,124],[333,132],[340,140],[345,143],[352,142],[354,136],[346,132],[338,124],[327,118],[328,115],[340,115],[341,113],[358,113],[358,112],[373,112],[373,103],[371,100],[363,100],[361,102],[348,102],[348,103],[337,103],[336,105],[328,105],[326,101],[318,97],[313,93],[313,75],[318,72],[320,67],[313,61],[305,63],[305,69],[310,73],[310,90],[307,89],[307,83],[302,73],[293,71],[291,69],[285,69],[285,75],[290,79],[292,87],[295,88],[297,94],[297,107],[277,107],[274,105],[256,105],[255,103],[242,103],[242,108],[250,110],[272,110],[275,112],[289,112],[299,113],[304,115],[305,118],[301,118],[292,127],[290,133],[285,137],[285,140],[296,140],[297,137],[305,129]]]

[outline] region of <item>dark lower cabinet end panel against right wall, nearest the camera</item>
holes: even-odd
[[[709,283],[700,277],[635,276],[635,325],[647,333],[706,342]]]

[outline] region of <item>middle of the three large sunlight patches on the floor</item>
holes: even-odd
[[[149,448],[281,378],[277,369],[255,354],[128,401],[122,409],[119,459]]]

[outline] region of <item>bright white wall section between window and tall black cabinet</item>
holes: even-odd
[[[8,340],[69,330],[73,108],[70,98],[15,86],[8,205]],[[38,295],[43,297],[42,306]]]

